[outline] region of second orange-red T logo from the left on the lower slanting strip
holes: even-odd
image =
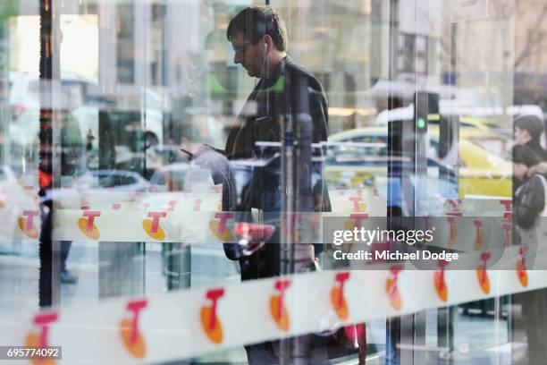
[[[140,311],[147,307],[147,300],[130,301],[126,309],[132,312],[131,318],[122,318],[120,321],[120,335],[125,348],[137,359],[142,359],[147,353],[144,336],[139,329]]]

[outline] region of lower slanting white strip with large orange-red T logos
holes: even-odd
[[[66,364],[184,359],[546,287],[546,271],[522,275],[517,252],[505,271],[325,271],[12,315],[0,318],[0,344],[61,345]],[[538,259],[545,267],[546,253]]]

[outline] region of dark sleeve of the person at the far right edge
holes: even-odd
[[[524,229],[532,228],[535,220],[543,211],[544,206],[545,194],[543,183],[539,176],[534,176],[517,191],[515,197],[517,225]]]

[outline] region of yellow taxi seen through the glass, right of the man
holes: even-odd
[[[325,174],[329,189],[383,189],[387,181],[388,136],[387,127],[365,127],[333,134],[329,137],[325,156]],[[439,129],[428,129],[428,177],[439,181],[439,167],[444,166],[439,157]],[[485,148],[481,140],[506,142],[494,132],[460,128],[458,165],[458,194],[510,197],[512,193],[512,164],[510,156],[495,144]],[[404,159],[405,157],[398,157]],[[454,184],[455,186],[455,184]]]

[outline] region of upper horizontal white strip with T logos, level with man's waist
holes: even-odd
[[[38,211],[34,211],[36,214]],[[27,212],[30,214],[29,212]],[[250,213],[249,213],[250,215]],[[20,230],[25,234],[38,234],[38,222],[29,225],[29,216],[20,219]],[[55,212],[54,233],[55,241],[101,241],[101,242],[192,242],[192,243],[221,243],[235,242],[234,235],[236,212],[207,212],[179,210],[127,210],[122,208],[106,210],[69,210],[58,209]],[[351,231],[355,227],[366,230],[384,229],[378,226],[377,218],[369,219],[366,213],[351,213],[341,216],[339,213],[296,213],[292,220],[288,217],[288,226],[295,227],[295,234],[300,234],[294,225],[297,218],[310,222],[313,240],[304,239],[301,235],[299,242],[332,243],[332,237],[321,237],[323,219],[343,217],[336,226],[338,230]],[[383,218],[381,218],[383,219]],[[466,252],[487,250],[492,247],[511,245],[511,221],[506,218],[469,218],[460,216],[435,217],[434,241],[429,244],[436,247],[462,250]],[[291,220],[291,222],[289,222]],[[431,229],[431,218],[424,217],[418,229]],[[439,225],[439,220],[441,224]],[[267,223],[267,222],[266,222]],[[276,222],[277,223],[277,222]],[[343,224],[342,224],[343,223]],[[385,225],[383,219],[382,224]],[[323,223],[324,225],[324,223]],[[25,231],[30,227],[30,231]],[[303,228],[309,229],[309,225]],[[37,235],[38,237],[38,235]],[[310,236],[306,236],[310,237]],[[297,238],[295,238],[298,240]]]

